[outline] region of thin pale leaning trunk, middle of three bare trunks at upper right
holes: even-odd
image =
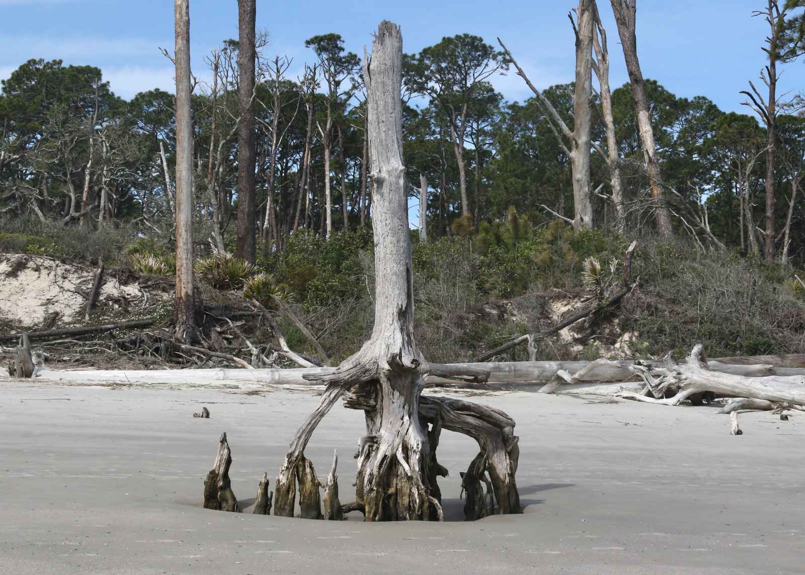
[[[601,23],[598,6],[593,1],[597,34],[592,35],[592,48],[596,52],[594,69],[598,77],[601,92],[601,112],[606,128],[607,166],[609,168],[609,186],[612,188],[612,203],[615,206],[615,229],[625,231],[625,209],[623,205],[623,183],[621,180],[621,153],[617,147],[615,119],[612,111],[612,90],[609,88],[609,48],[606,31]]]

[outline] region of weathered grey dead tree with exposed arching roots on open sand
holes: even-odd
[[[403,165],[402,68],[400,29],[384,21],[374,39],[372,58],[364,62],[369,93],[369,157],[375,184],[374,329],[369,341],[335,373],[307,377],[327,387],[319,407],[296,432],[279,470],[275,515],[293,515],[298,481],[299,504],[306,510],[303,516],[320,516],[320,510],[315,508],[320,482],[303,452],[316,425],[347,391],[348,407],[365,412],[366,435],[361,437],[357,454],[356,503],[345,507],[361,509],[367,521],[442,519],[436,477],[446,474],[446,470],[436,463],[436,445],[440,430],[446,428],[478,441],[497,511],[520,511],[514,481],[519,454],[514,421],[490,407],[420,396],[426,374],[479,381],[487,379],[489,372],[429,364],[414,340],[411,237]],[[432,424],[431,429],[427,422]]]

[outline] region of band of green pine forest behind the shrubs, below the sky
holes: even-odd
[[[522,72],[502,42],[463,34],[406,55],[403,149],[411,197],[423,207],[421,238],[476,234],[513,207],[531,221],[559,217],[577,228],[688,234],[702,249],[805,257],[803,100],[776,92],[782,67],[799,65],[805,3],[758,3],[755,16],[769,24],[758,39],[767,64],[760,79],[747,79],[746,114],[642,79],[634,0],[612,0],[611,34],[624,46],[630,81],[611,90],[593,0],[571,14],[575,81],[525,101],[506,101],[493,87],[497,75]],[[253,260],[255,246],[283,250],[299,229],[327,237],[369,225],[361,56],[336,33],[306,40],[310,61],[301,68],[271,55],[266,34],[253,35],[254,58],[241,44],[226,40],[193,63],[196,246],[232,250],[237,238],[237,254]],[[254,72],[242,69],[249,62]],[[172,238],[171,93],[126,101],[99,68],[28,60],[2,81],[0,124],[6,217]]]

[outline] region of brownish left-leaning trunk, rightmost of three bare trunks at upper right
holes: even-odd
[[[643,157],[646,161],[646,173],[649,177],[651,197],[657,203],[655,217],[657,230],[663,235],[671,234],[671,216],[663,202],[663,190],[660,188],[659,164],[657,163],[657,147],[654,143],[654,130],[651,127],[646,86],[638,60],[637,0],[612,0],[612,8],[617,23],[617,33],[621,37],[621,47],[625,57],[626,70],[632,86],[634,108],[638,116],[638,130],[643,145]]]

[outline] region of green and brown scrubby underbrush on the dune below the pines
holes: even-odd
[[[175,273],[173,246],[165,238],[132,237],[125,227],[96,230],[33,218],[2,224],[4,253],[88,264],[101,255],[108,268]],[[575,232],[561,221],[532,225],[514,209],[505,221],[481,223],[477,233],[460,231],[427,243],[412,233],[416,337],[435,362],[469,361],[510,337],[550,327],[557,314],[579,308],[590,297],[590,258],[598,270],[614,269],[611,275],[619,281],[631,239],[600,230]],[[198,249],[209,248],[199,244]],[[255,265],[213,254],[197,258],[195,270],[196,279],[213,292],[237,292],[237,297],[242,292],[266,308],[275,308],[275,298],[291,304],[333,360],[354,353],[371,332],[369,228],[336,231],[328,240],[299,230],[285,250],[262,254]],[[669,350],[682,354],[698,341],[711,357],[799,353],[805,347],[802,271],[735,252],[702,252],[685,238],[643,238],[631,275],[640,285],[617,313],[588,322],[573,333],[573,341],[539,341],[537,357],[597,358],[623,334],[629,337],[623,338],[620,353],[630,357],[661,357]],[[304,351],[308,344],[301,333],[292,325],[285,328],[289,341],[298,339]],[[501,359],[526,359],[526,350],[510,350]]]

